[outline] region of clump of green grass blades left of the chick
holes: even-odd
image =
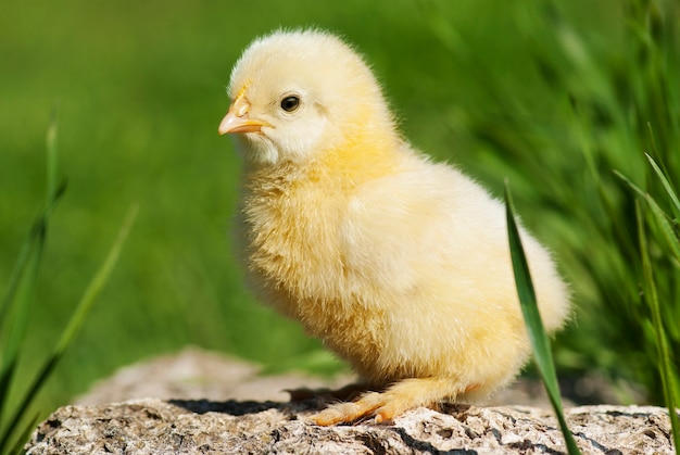
[[[137,207],[130,208],[118,237],[101,268],[90,281],[78,305],[72,309],[71,319],[56,344],[43,349],[45,358],[37,371],[28,378],[17,380],[17,366],[25,359],[23,350],[26,327],[29,317],[40,308],[35,307],[34,291],[38,287],[38,270],[47,247],[48,227],[56,202],[65,191],[65,185],[56,184],[56,116],[53,115],[47,135],[47,192],[45,208],[35,220],[18,258],[15,262],[12,278],[0,305],[0,454],[20,453],[42,412],[36,412],[32,405],[40,390],[51,377],[66,350],[73,343],[83,327],[95,299],[101,292],[118,260],[121,249],[129,232]],[[24,380],[29,381],[25,386]]]

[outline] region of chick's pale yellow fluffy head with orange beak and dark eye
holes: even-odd
[[[380,87],[363,59],[332,35],[276,31],[255,40],[231,72],[221,134],[245,160],[304,162],[369,131],[393,135]]]

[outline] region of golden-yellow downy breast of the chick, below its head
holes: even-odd
[[[350,289],[342,225],[350,191],[315,172],[253,173],[237,217],[241,257],[261,299],[300,320],[354,366],[375,362],[382,325],[362,306],[363,289]]]

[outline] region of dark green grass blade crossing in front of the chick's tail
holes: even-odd
[[[559,395],[559,387],[557,386],[557,375],[555,372],[555,364],[550,349],[550,341],[545,334],[543,321],[541,320],[541,315],[539,314],[536,292],[533,290],[531,275],[529,273],[529,265],[527,264],[517,224],[515,223],[515,208],[507,180],[505,181],[505,210],[507,218],[507,236],[513,261],[513,270],[515,273],[515,283],[517,287],[517,294],[519,295],[521,313],[527,324],[529,340],[531,341],[531,347],[533,349],[536,364],[539,368],[539,372],[541,374],[541,378],[543,379],[543,384],[545,386],[553,409],[555,409],[555,415],[557,416],[559,428],[562,429],[562,433],[567,445],[567,451],[570,455],[580,454],[580,451],[576,445],[576,441],[574,440],[574,435],[571,434],[564,417],[562,397]]]

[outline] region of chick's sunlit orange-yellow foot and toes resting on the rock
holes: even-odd
[[[329,426],[354,421],[375,415],[377,424],[391,420],[418,406],[432,406],[443,400],[454,400],[476,386],[461,387],[451,378],[404,379],[385,392],[369,392],[352,403],[338,403],[312,416],[316,425]]]

